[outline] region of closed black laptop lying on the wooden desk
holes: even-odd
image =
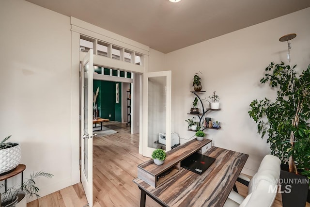
[[[181,167],[201,175],[214,161],[215,158],[195,152],[181,161]]]

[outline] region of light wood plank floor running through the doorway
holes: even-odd
[[[138,153],[139,134],[130,134],[129,127],[117,122],[104,125],[118,133],[93,139],[93,206],[139,207],[140,190],[132,180],[137,177],[137,165],[148,160]],[[247,195],[247,187],[237,183],[237,188],[241,195]],[[83,187],[78,183],[32,201],[27,207],[83,207],[86,204]],[[160,207],[148,196],[146,206]],[[280,194],[273,207],[282,207]]]

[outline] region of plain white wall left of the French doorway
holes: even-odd
[[[0,28],[0,140],[12,135],[21,144],[24,178],[41,170],[55,175],[37,181],[44,196],[74,184],[70,18],[28,1],[1,0]]]

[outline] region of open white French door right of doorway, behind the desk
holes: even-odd
[[[143,156],[151,157],[159,133],[171,150],[171,71],[143,74]]]

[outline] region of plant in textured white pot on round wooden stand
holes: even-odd
[[[0,142],[0,175],[10,173],[21,160],[21,150],[19,143],[7,142],[11,135]]]

